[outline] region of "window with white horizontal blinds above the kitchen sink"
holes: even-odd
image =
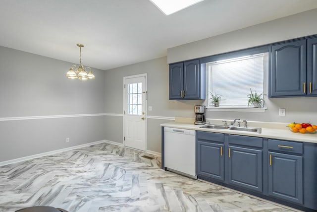
[[[207,63],[208,99],[220,94],[220,107],[248,107],[250,88],[264,92],[264,57],[267,53]]]

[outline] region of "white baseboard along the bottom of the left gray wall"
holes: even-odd
[[[22,162],[22,161],[34,159],[34,158],[37,158],[37,157],[43,157],[43,156],[47,156],[47,155],[52,155],[52,154],[60,153],[60,152],[63,152],[63,151],[69,151],[69,150],[73,150],[73,149],[76,149],[76,148],[82,148],[82,147],[91,146],[91,145],[95,145],[95,144],[98,144],[98,143],[104,143],[104,142],[106,142],[106,140],[80,144],[80,145],[76,145],[76,146],[71,146],[71,147],[67,147],[67,148],[57,149],[57,150],[53,150],[53,151],[47,151],[47,152],[43,152],[43,153],[40,153],[40,154],[34,154],[34,155],[25,156],[25,157],[19,157],[19,158],[12,159],[12,160],[2,161],[2,162],[0,162],[0,166],[8,165],[8,164],[11,164],[11,163]]]

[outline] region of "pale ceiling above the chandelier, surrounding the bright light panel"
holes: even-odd
[[[0,46],[109,70],[317,8],[317,0],[204,0],[165,16],[150,0],[1,0]]]

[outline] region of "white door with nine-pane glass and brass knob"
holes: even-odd
[[[146,149],[146,74],[124,77],[124,146]]]

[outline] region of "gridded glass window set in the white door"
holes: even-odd
[[[142,114],[142,82],[128,84],[128,114]]]

